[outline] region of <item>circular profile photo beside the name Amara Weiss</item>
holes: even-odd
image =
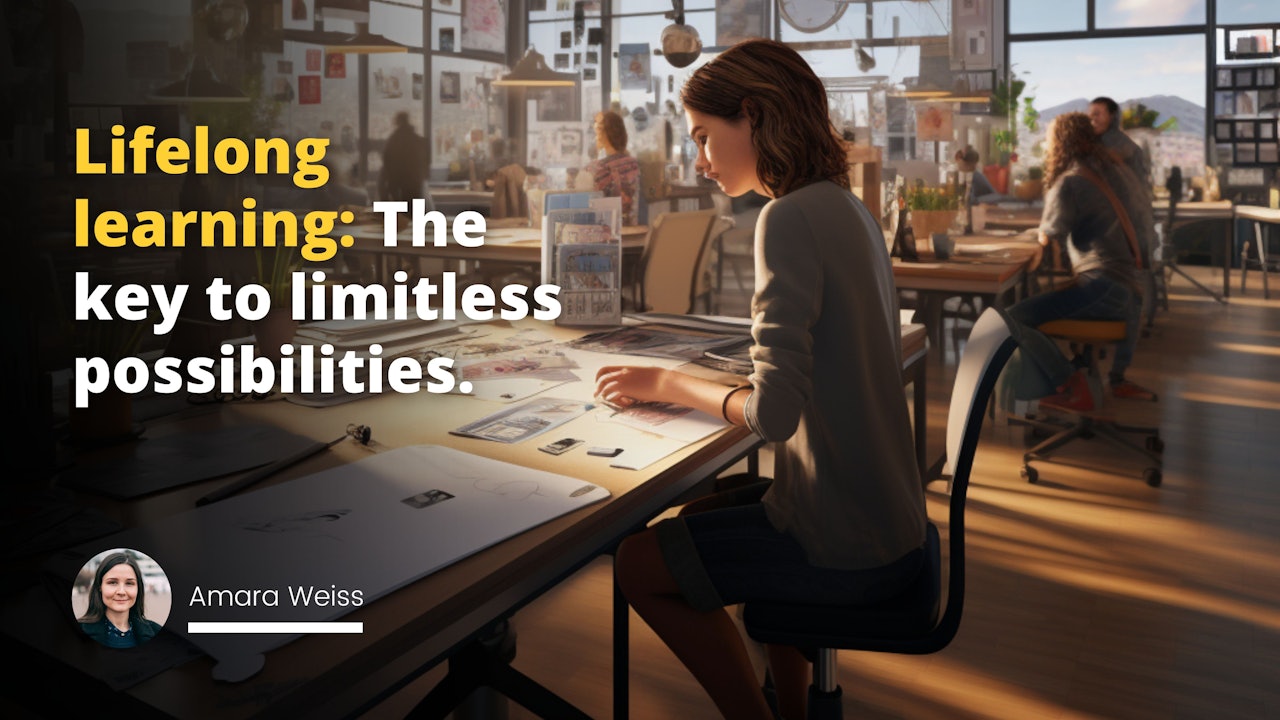
[[[172,600],[160,565],[123,547],[91,557],[72,585],[72,611],[81,630],[106,647],[137,647],[156,637]]]

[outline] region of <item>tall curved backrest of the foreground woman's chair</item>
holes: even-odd
[[[1009,325],[993,307],[978,316],[969,333],[955,387],[951,389],[951,410],[947,413],[947,464],[943,474],[950,474],[951,501],[948,503],[950,578],[947,580],[947,609],[932,635],[943,644],[950,642],[960,626],[964,611],[964,505],[969,492],[969,473],[978,450],[978,437],[987,415],[991,393],[1005,369],[1016,342]]]

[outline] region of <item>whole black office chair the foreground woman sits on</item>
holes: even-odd
[[[836,650],[927,655],[946,647],[960,628],[964,610],[964,503],[996,379],[1015,347],[1000,315],[986,310],[974,323],[956,373],[947,416],[947,466],[951,470],[950,551],[946,609],[942,610],[942,559],[938,529],[929,523],[924,568],[900,596],[873,606],[813,606],[750,602],[742,621],[763,643],[795,646],[814,660],[809,685],[810,719],[842,716],[836,682]]]

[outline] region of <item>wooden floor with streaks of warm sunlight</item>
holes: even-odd
[[[1162,487],[1097,439],[1028,484],[1023,430],[988,423],[959,635],[933,656],[841,652],[846,717],[1280,717],[1280,299],[1251,281],[1220,305],[1178,278],[1130,372],[1160,402],[1112,401],[1158,423]],[[931,452],[954,370],[931,363]],[[932,483],[928,503],[945,529],[943,491]],[[516,667],[593,717],[612,715],[611,592],[604,559],[516,616]],[[717,716],[634,615],[631,642],[632,717]],[[442,671],[370,716],[403,716]]]

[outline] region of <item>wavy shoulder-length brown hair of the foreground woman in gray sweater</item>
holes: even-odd
[[[786,45],[739,42],[698,68],[680,99],[708,115],[748,118],[756,176],[774,197],[820,179],[849,188],[845,141],[831,124],[827,90]]]

